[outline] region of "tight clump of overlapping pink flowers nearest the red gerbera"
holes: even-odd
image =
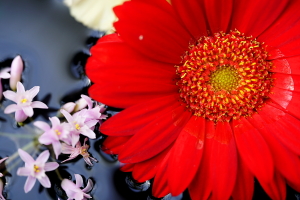
[[[106,119],[107,116],[102,114],[105,111],[104,105],[95,105],[93,107],[91,98],[86,95],[81,95],[81,98],[86,101],[88,108],[82,108],[72,115],[64,109],[60,110],[66,118],[66,122],[60,122],[58,117],[50,117],[52,127],[42,121],[36,121],[34,125],[44,131],[39,137],[39,142],[45,145],[52,144],[56,158],[58,158],[59,154],[64,153],[71,154],[69,159],[67,159],[71,160],[81,154],[87,164],[92,165],[89,161],[90,156],[87,153],[88,145],[85,144],[87,139],[81,147],[80,135],[95,139],[96,134],[93,131],[95,125],[101,122],[102,119]],[[95,159],[92,160],[96,161]]]

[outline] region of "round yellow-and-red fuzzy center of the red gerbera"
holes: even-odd
[[[266,45],[239,31],[203,36],[176,66],[181,100],[214,122],[251,116],[268,99],[273,63]]]

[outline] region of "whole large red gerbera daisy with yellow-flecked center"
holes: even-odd
[[[300,1],[132,0],[91,49],[104,146],[153,195],[300,191]]]

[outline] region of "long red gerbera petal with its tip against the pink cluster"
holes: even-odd
[[[104,122],[100,131],[112,136],[133,135],[164,113],[178,107],[178,99],[178,94],[175,94],[131,106]]]

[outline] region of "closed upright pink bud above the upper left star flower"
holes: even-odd
[[[10,88],[14,91],[17,88],[17,83],[21,81],[23,68],[24,66],[21,56],[16,56],[11,63],[11,78],[9,79]]]

